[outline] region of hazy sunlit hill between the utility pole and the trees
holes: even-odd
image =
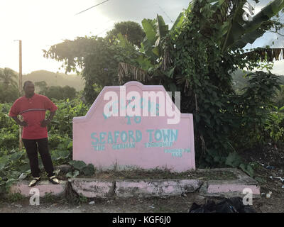
[[[31,80],[33,83],[45,81],[50,86],[65,87],[66,85],[74,87],[77,92],[84,89],[84,80],[81,75],[55,73],[45,70],[33,71],[29,74],[23,75],[23,82]]]

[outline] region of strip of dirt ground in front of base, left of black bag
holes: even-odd
[[[172,198],[152,199],[88,199],[81,204],[70,204],[64,199],[58,201],[41,201],[39,206],[31,206],[28,199],[16,203],[0,205],[0,212],[71,212],[71,213],[185,213],[188,212],[195,195]],[[91,204],[89,204],[91,203]]]

